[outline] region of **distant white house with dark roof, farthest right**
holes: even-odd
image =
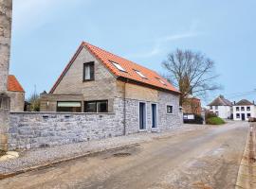
[[[256,107],[254,102],[250,102],[247,99],[240,100],[233,105],[233,119],[234,120],[248,120],[250,117],[255,117]]]

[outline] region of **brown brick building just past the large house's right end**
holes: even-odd
[[[186,114],[201,114],[201,100],[192,95],[186,97],[182,104],[183,113]]]

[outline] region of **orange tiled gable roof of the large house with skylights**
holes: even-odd
[[[74,60],[76,60],[77,56],[79,55],[83,47],[88,49],[92,55],[94,55],[98,60],[100,60],[101,63],[103,63],[105,67],[115,77],[119,79],[128,79],[128,82],[136,82],[137,84],[144,84],[149,87],[154,87],[157,89],[179,94],[178,90],[176,90],[170,82],[168,82],[165,78],[159,76],[155,71],[138,65],[133,61],[125,60],[117,55],[114,55],[110,52],[101,49],[100,47],[85,42],[82,42],[74,57],[66,65],[66,67],[64,68],[64,72],[58,78],[58,80],[55,82],[54,86],[50,90],[50,94],[52,94],[54,90],[57,88],[58,84],[61,82],[62,78],[64,77],[65,73],[68,71]],[[113,62],[118,63],[125,71],[120,71],[113,64]],[[140,77],[136,71],[139,71],[146,78]]]

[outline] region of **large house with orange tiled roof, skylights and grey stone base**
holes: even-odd
[[[179,94],[155,71],[83,42],[40,111],[115,113],[126,133],[170,129],[181,124]]]

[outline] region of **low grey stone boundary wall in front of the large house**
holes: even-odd
[[[115,113],[11,112],[9,150],[79,143],[123,134]]]

